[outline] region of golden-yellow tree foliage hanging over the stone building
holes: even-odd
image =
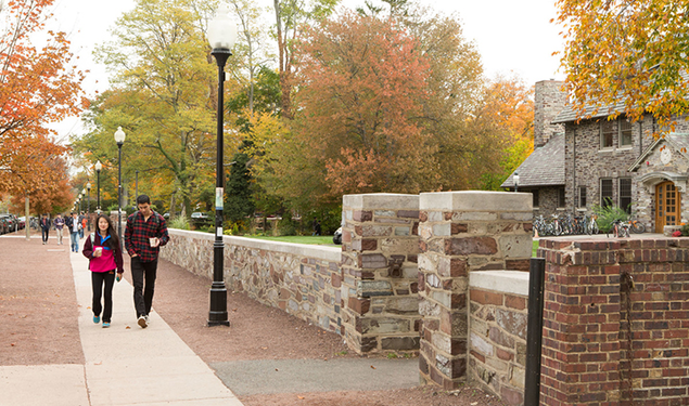
[[[689,36],[686,1],[559,0],[563,26],[562,66],[573,106],[625,114],[638,120],[650,112],[661,126],[689,110]],[[600,108],[624,104],[623,112]]]

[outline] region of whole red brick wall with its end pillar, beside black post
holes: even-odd
[[[689,239],[548,240],[541,404],[689,405]]]

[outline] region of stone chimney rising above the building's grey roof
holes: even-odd
[[[541,80],[536,82],[534,94],[534,148],[546,145],[550,137],[564,132],[563,125],[550,122],[562,112],[567,102],[567,95],[562,91],[563,81]]]

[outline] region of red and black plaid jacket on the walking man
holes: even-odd
[[[149,238],[158,237],[161,246],[167,244],[170,237],[167,235],[165,219],[155,211],[143,221],[140,211],[127,218],[127,228],[125,228],[125,248],[129,256],[137,254],[142,262],[151,262],[158,259],[158,247],[151,247]]]

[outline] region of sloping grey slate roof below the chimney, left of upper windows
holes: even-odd
[[[514,172],[519,173],[519,187],[564,185],[564,133],[552,135],[546,145],[534,149]],[[501,187],[514,187],[510,176]]]

